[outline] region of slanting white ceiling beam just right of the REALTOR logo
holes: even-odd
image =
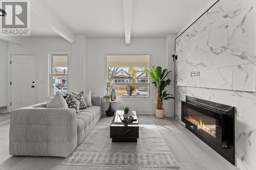
[[[69,42],[75,42],[74,33],[66,27],[62,22],[60,22],[55,16],[52,15],[43,5],[40,4],[38,0],[30,1],[31,11],[40,16],[46,23],[49,24],[50,28],[65,38]]]

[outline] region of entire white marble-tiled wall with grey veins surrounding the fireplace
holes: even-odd
[[[176,53],[176,118],[186,95],[236,107],[236,166],[255,170],[256,1],[220,0],[176,39]]]

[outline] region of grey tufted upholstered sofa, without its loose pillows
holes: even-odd
[[[10,155],[68,157],[102,116],[102,98],[81,109],[46,108],[46,103],[13,110]]]

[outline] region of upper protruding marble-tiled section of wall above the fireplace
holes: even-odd
[[[176,39],[179,86],[256,91],[255,8],[254,0],[220,0]]]

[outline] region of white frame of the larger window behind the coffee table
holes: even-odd
[[[150,55],[108,55],[108,56],[147,56],[148,57],[148,67],[147,69],[150,70]],[[107,61],[108,61],[108,56],[107,57]],[[106,65],[106,70],[108,70],[108,65]],[[106,80],[108,80],[108,71],[106,71]],[[123,82],[121,83],[112,83],[113,86],[115,85],[123,85],[123,86],[127,86],[127,96],[117,96],[117,99],[119,100],[123,100],[123,99],[140,99],[140,98],[151,98],[150,96],[150,88],[151,88],[151,79],[150,79],[150,76],[148,75],[148,78],[147,78],[147,83],[126,83],[126,79]],[[147,86],[147,96],[130,96],[130,86],[131,85],[138,85],[138,86]]]

